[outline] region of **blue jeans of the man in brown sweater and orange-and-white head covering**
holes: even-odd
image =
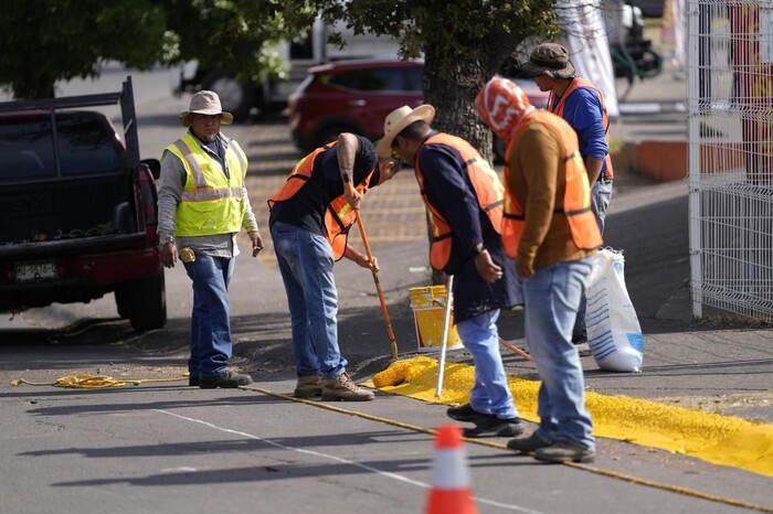
[[[523,293],[526,341],[542,381],[537,433],[547,441],[569,440],[594,449],[580,355],[571,341],[591,260],[586,257],[538,269],[523,281]]]

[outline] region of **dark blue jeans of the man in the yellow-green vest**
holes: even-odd
[[[191,312],[191,376],[212,376],[227,368],[233,352],[229,282],[234,259],[195,254],[193,263],[183,263],[193,281]]]

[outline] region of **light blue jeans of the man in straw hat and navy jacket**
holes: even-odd
[[[469,318],[456,325],[464,346],[475,361],[475,385],[469,405],[478,413],[501,419],[518,417],[499,353],[499,309]]]

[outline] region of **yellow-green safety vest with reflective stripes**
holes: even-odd
[[[226,176],[220,162],[187,133],[167,151],[173,153],[186,169],[180,204],[174,215],[174,235],[209,236],[230,234],[242,228],[244,178],[247,158],[236,141],[225,151]]]

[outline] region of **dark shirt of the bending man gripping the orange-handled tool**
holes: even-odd
[[[370,184],[379,183],[379,158],[375,147],[367,138],[357,136],[359,151],[354,157],[353,181],[361,183],[373,171]],[[298,180],[298,179],[290,179]],[[288,200],[276,202],[268,215],[275,222],[299,226],[315,234],[327,235],[325,212],[332,200],[343,194],[343,181],[338,168],[338,144],[317,154],[311,178]]]

